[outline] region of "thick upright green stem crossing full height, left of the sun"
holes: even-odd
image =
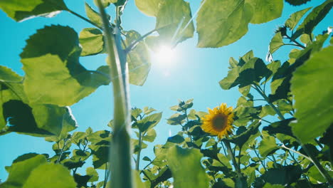
[[[122,73],[126,74],[126,56],[121,48],[119,40],[120,32],[115,28],[115,35],[112,33],[107,15],[102,7],[100,0],[97,0],[98,8],[103,22],[103,31],[105,36],[105,46],[110,64],[110,76],[113,85],[114,98],[114,130],[110,147],[110,171],[111,187],[113,188],[132,188],[134,181],[132,176],[131,156],[129,137],[129,101],[128,101],[128,80],[124,79]],[[125,57],[125,58],[124,58]],[[123,66],[122,66],[123,65]]]

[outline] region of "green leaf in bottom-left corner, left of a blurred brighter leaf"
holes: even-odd
[[[46,157],[44,155],[21,155],[16,160],[14,160],[13,164],[11,164],[11,167],[6,167],[9,175],[6,182],[0,184],[0,187],[23,187],[23,185],[26,183],[26,180],[31,175],[33,169],[45,163]]]

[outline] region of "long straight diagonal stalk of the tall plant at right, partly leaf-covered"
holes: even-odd
[[[270,102],[268,96],[263,92],[263,90],[260,88],[259,85],[252,85],[252,87],[258,91],[258,93],[266,100],[266,102],[268,103],[268,105],[270,105],[273,110],[275,111],[275,113],[280,117],[281,120],[285,120],[285,117],[282,115],[282,113],[280,112],[279,109],[277,109],[275,107],[275,105],[273,105],[273,103]],[[302,146],[302,148],[304,149],[305,153],[307,153],[307,156],[310,157],[310,159],[312,160],[312,163],[314,164],[314,166],[317,167],[317,169],[319,170],[320,174],[322,174],[322,177],[324,177],[324,179],[327,180],[327,182],[329,183],[330,187],[333,187],[333,179],[332,177],[328,174],[328,172],[326,171],[326,169],[324,169],[324,167],[322,167],[322,164],[320,164],[320,162],[317,160],[317,157],[314,156],[314,154],[308,150],[306,145],[303,145],[303,143],[297,139],[297,142],[300,143],[300,145]]]

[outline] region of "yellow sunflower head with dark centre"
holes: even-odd
[[[205,115],[202,120],[202,130],[211,135],[217,135],[221,140],[223,136],[231,134],[233,129],[233,108],[227,108],[226,103],[222,103],[213,110],[208,108],[208,115]]]

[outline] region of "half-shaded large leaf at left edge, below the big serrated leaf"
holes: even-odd
[[[2,66],[1,70],[4,73],[0,75],[1,128],[8,125],[5,127],[7,132],[34,136],[62,135],[75,129],[70,108],[28,103],[22,83],[15,82],[22,80],[21,76]]]

